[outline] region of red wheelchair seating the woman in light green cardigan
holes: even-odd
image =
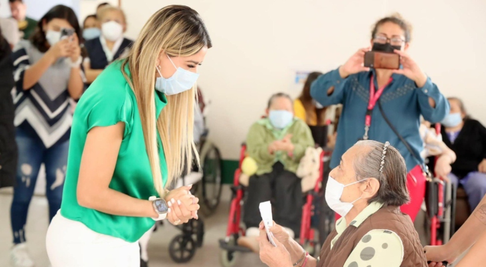
[[[323,183],[323,174],[325,161],[329,161],[329,156],[326,156],[326,151],[321,153],[320,162],[320,175],[314,186],[314,189],[305,193],[305,203],[302,207],[302,221],[300,228],[300,244],[310,254],[318,253],[317,245],[320,243],[316,240],[316,232],[314,226],[318,220],[319,215],[319,203],[324,202],[323,188],[319,184]],[[219,246],[221,249],[220,263],[224,267],[231,267],[236,264],[238,254],[241,252],[250,252],[248,248],[238,246],[237,240],[240,236],[245,235],[245,227],[241,221],[242,218],[242,206],[244,204],[245,187],[240,184],[240,175],[242,174],[242,163],[246,156],[246,145],[243,144],[240,151],[239,167],[235,171],[233,178],[233,185],[231,186],[232,199],[230,203],[229,218],[226,229],[226,237],[219,240]],[[328,220],[327,233],[319,233],[319,235],[327,236],[332,231],[332,220]],[[320,245],[320,244],[319,244]]]

